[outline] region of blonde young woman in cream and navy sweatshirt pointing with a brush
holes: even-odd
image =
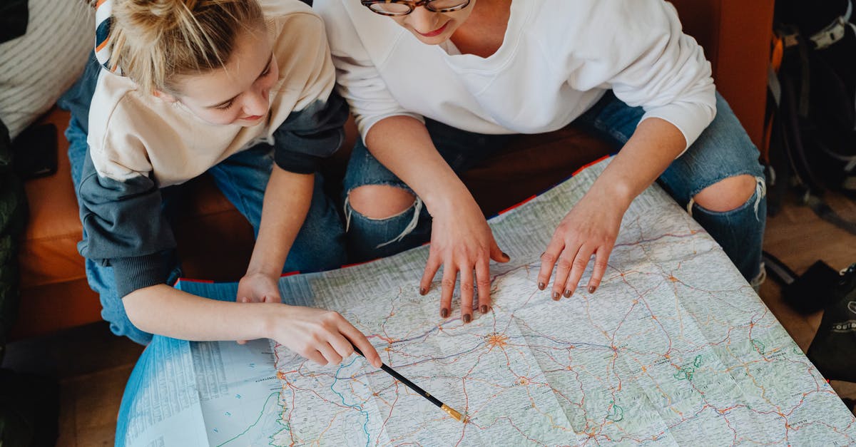
[[[321,364],[351,355],[353,342],[379,366],[341,315],[282,305],[276,286],[283,265],[315,270],[343,259],[341,221],[314,174],[341,145],[347,116],[331,93],[323,22],[296,0],[113,0],[98,8],[108,19],[98,50],[109,51],[109,70],[98,76],[88,140],[77,118],[68,136],[72,159],[83,164],[75,178],[80,253],[111,329],[139,343],[152,333],[270,337]],[[175,241],[164,188],[206,171],[257,233],[238,289],[248,304],[166,284]]]

